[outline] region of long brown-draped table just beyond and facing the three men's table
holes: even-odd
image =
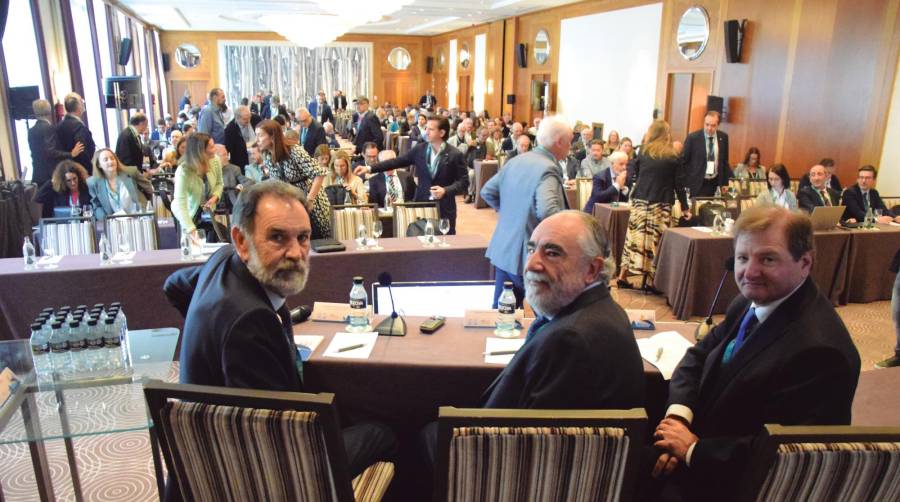
[[[367,284],[381,272],[398,282],[491,278],[481,236],[448,236],[447,248],[424,248],[414,237],[381,239],[381,251],[360,251],[355,242],[343,242],[345,252],[311,254],[306,289],[289,298],[289,306],[345,302],[356,275]],[[175,270],[200,262],[181,261],[175,249],[136,253],[130,264],[101,267],[99,262],[99,255],[66,256],[57,269],[26,271],[21,258],[0,260],[0,340],[27,337],[28,325],[44,307],[115,301],[122,303],[131,329],[181,328],[181,316],[162,287]]]

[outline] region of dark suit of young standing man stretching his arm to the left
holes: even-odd
[[[438,185],[444,187],[445,193],[438,202],[438,212],[441,218],[450,220],[450,233],[456,233],[456,196],[465,194],[469,186],[469,171],[466,169],[465,158],[462,152],[453,145],[445,143],[444,151],[438,159],[438,167],[434,178],[428,170],[426,152],[429,143],[419,143],[405,154],[395,158],[379,162],[372,166],[373,173],[381,173],[398,167],[415,166],[416,177],[419,184],[416,187],[415,201],[428,202],[431,197],[431,187]]]

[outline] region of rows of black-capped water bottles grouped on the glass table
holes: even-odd
[[[130,376],[128,321],[121,305],[41,311],[31,324],[38,383]]]

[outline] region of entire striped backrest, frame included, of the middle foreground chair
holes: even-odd
[[[441,407],[435,501],[630,500],[643,409]]]

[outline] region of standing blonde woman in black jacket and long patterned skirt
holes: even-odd
[[[628,277],[640,275],[643,287],[655,291],[656,266],[653,261],[659,239],[672,223],[675,194],[684,217],[689,219],[691,213],[684,195],[684,164],[672,147],[669,124],[664,120],[654,121],[645,137],[641,153],[634,160],[637,181],[631,195],[628,233],[616,284],[620,288],[631,288]]]

